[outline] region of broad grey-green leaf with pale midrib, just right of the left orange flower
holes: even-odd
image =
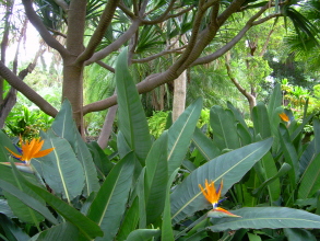
[[[40,162],[46,183],[70,203],[82,193],[84,171],[70,144],[60,137],[46,136],[44,149],[55,148],[49,154],[33,162]]]

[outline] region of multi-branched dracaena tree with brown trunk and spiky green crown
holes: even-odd
[[[98,64],[114,72],[105,60],[125,46],[129,47],[130,65],[152,64],[158,58],[173,59],[170,65],[164,65],[167,67],[158,68],[158,71],[141,74],[137,88],[139,93],[145,93],[175,80],[188,68],[220,58],[250,28],[272,19],[286,16],[294,20],[296,30],[307,35],[316,32],[313,25],[294,9],[297,1],[292,0],[22,0],[22,3],[28,21],[45,43],[61,56],[61,100],[70,101],[80,130],[83,129],[85,114],[117,103],[115,94],[83,105],[84,68]],[[247,21],[237,32],[225,35],[225,24],[229,24],[237,14],[245,14]],[[60,41],[61,37],[64,41]],[[173,39],[182,45],[173,47]],[[57,114],[50,103],[22,82],[3,62],[0,62],[0,74],[45,113],[50,116]]]

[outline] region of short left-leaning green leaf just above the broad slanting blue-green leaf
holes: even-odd
[[[221,152],[212,140],[197,127],[193,133],[192,141],[206,161],[214,159]]]

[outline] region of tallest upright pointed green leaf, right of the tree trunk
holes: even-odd
[[[127,48],[119,55],[117,60],[116,85],[119,129],[141,164],[144,165],[152,142],[139,93],[128,69]]]

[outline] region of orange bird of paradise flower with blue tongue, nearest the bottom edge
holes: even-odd
[[[211,181],[211,183],[208,182],[208,180],[205,180],[205,186],[202,187],[201,184],[199,184],[199,187],[203,194],[203,196],[205,197],[205,199],[212,204],[213,209],[210,210],[208,213],[208,217],[238,217],[240,218],[240,216],[234,215],[232,213],[229,213],[228,210],[218,207],[217,205],[223,202],[224,199],[220,200],[220,196],[221,196],[221,191],[223,188],[223,181],[221,181],[218,188],[216,190],[214,186],[214,182]]]

